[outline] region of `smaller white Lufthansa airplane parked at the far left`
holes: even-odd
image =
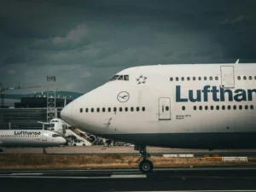
[[[1,130],[0,131],[0,152],[3,147],[32,147],[45,148],[64,145],[66,139],[60,137],[53,131],[42,130]]]

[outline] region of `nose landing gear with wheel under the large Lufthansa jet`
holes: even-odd
[[[148,173],[153,171],[153,163],[150,160],[147,160],[151,155],[147,153],[147,148],[145,145],[135,145],[134,150],[137,150],[140,152],[140,159],[143,158],[143,161],[139,164],[139,169],[141,172]],[[137,160],[137,163],[139,162]]]

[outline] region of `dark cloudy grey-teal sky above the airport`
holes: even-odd
[[[3,87],[86,93],[127,67],[256,62],[256,1],[6,0]],[[55,75],[56,82],[46,76]],[[9,90],[27,93],[33,90]]]

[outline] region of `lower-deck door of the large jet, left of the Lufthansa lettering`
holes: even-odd
[[[169,97],[159,98],[159,119],[171,120],[171,99]]]

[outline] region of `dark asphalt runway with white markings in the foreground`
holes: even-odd
[[[256,191],[256,167],[0,172],[4,191]]]

